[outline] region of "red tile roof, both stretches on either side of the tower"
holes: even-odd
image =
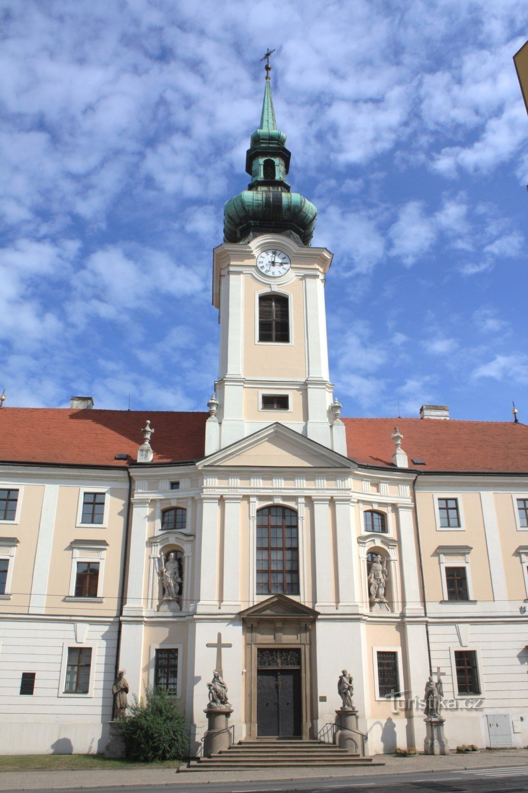
[[[0,462],[115,465],[132,461],[147,419],[155,433],[154,462],[185,462],[204,456],[208,413],[169,411],[2,408]],[[393,468],[394,427],[404,436],[409,467],[419,471],[528,473],[528,427],[512,422],[450,419],[343,419],[351,459]],[[422,458],[425,465],[414,465]]]

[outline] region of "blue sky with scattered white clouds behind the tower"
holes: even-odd
[[[518,0],[0,0],[0,390],[205,410],[212,248],[276,48],[345,416],[528,419]]]

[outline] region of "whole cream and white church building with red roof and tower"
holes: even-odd
[[[235,740],[327,739],[346,669],[366,753],[423,747],[431,672],[452,747],[528,742],[528,432],[341,416],[269,76],[209,412],[0,410],[4,753],[104,750],[118,669],[181,699],[193,752],[215,670]]]

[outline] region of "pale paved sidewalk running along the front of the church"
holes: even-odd
[[[224,782],[266,782],[267,780],[316,780],[348,776],[376,776],[378,774],[406,774],[411,772],[457,771],[471,768],[491,768],[513,765],[528,767],[528,749],[498,749],[479,753],[451,754],[449,757],[394,757],[377,755],[370,768],[277,768],[252,771],[212,771],[197,774],[180,773],[175,768],[115,768],[109,771],[4,771],[0,772],[0,790],[42,790],[61,787],[127,787],[128,785],[173,785],[184,787]]]

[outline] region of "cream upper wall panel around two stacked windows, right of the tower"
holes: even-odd
[[[438,546],[470,546],[469,570],[473,585],[473,600],[493,600],[492,579],[489,570],[488,546],[484,534],[484,521],[480,494],[457,494],[461,500],[464,531],[437,531],[434,517],[434,498],[450,497],[449,492],[417,492],[420,542],[422,545],[423,573],[427,600],[442,600],[442,580],[436,549]],[[458,557],[446,557],[457,561]]]

